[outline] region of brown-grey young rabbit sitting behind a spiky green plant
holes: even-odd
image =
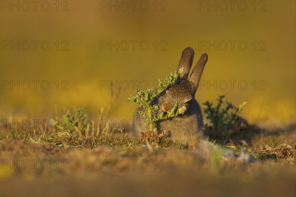
[[[185,105],[186,111],[183,115],[159,120],[156,122],[156,126],[157,134],[162,133],[164,130],[166,131],[166,135],[163,136],[164,139],[179,142],[190,148],[197,146],[203,133],[201,109],[194,95],[208,60],[208,55],[206,53],[202,54],[188,78],[193,56],[194,50],[191,47],[184,49],[178,66],[178,70],[182,67],[184,68],[183,73],[173,85],[160,93],[157,98],[153,98],[151,102],[152,105],[158,105],[159,114],[167,112],[176,102],[178,102],[180,107]],[[142,108],[138,108],[134,116],[134,136],[136,138],[141,137],[141,132],[148,131],[147,126],[144,124],[145,118],[139,115],[139,110],[142,110]]]

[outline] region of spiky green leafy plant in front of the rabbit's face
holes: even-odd
[[[184,114],[186,111],[185,106],[178,106],[178,103],[175,103],[174,107],[171,108],[168,112],[162,112],[157,114],[159,107],[157,105],[152,105],[151,101],[154,97],[157,97],[162,91],[164,91],[169,85],[173,84],[178,76],[182,74],[183,68],[179,69],[174,73],[171,73],[164,81],[158,79],[158,86],[153,88],[147,88],[146,90],[141,90],[139,86],[136,87],[136,95],[131,95],[128,99],[135,105],[139,105],[142,110],[139,111],[139,114],[143,116],[146,120],[145,124],[149,131],[155,133],[156,131],[156,121],[161,119],[167,119],[171,117],[177,117],[180,114]]]

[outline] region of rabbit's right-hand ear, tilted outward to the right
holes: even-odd
[[[202,54],[190,75],[189,80],[193,84],[194,90],[197,90],[198,88],[199,80],[207,61],[208,55],[206,53]]]

